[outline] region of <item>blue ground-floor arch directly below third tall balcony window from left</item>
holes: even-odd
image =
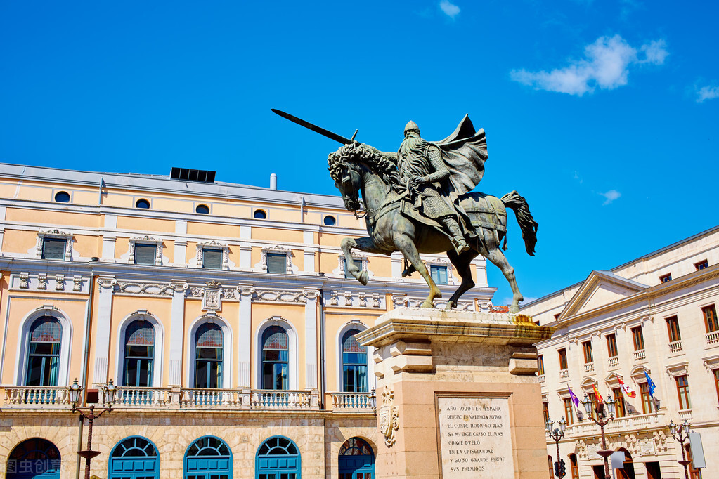
[[[185,453],[183,479],[232,479],[232,452],[223,440],[206,436]]]

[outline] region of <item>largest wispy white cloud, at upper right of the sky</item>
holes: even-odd
[[[585,47],[585,58],[573,60],[564,68],[547,72],[530,72],[525,69],[512,70],[510,78],[535,90],[557,91],[582,96],[592,93],[595,88],[614,90],[628,82],[629,66],[634,63],[661,65],[669,55],[664,40],[655,40],[642,45],[644,58],[639,59],[637,50],[622,37],[599,37]]]

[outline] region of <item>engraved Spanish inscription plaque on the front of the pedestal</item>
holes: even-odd
[[[444,479],[514,479],[509,400],[437,397]]]

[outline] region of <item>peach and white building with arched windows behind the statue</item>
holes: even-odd
[[[0,165],[0,479],[81,475],[75,379],[98,408],[117,386],[98,478],[373,478],[354,334],[426,284],[398,254],[358,252],[370,282],[348,278],[340,241],[366,232],[339,197],[175,173]],[[425,259],[446,299],[457,272]],[[473,274],[459,308],[489,311]]]

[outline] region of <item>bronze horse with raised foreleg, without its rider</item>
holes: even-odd
[[[510,312],[519,311],[519,302],[523,297],[517,286],[514,269],[500,249],[500,241],[506,235],[505,207],[514,210],[526,251],[531,256],[534,256],[538,223],[532,218],[526,200],[516,191],[502,198],[481,192],[469,192],[460,197],[462,207],[470,215],[477,235],[467,236],[466,241],[470,244],[470,250],[457,254],[448,236],[437,228],[425,224],[416,210],[412,210],[410,188],[402,184],[395,164],[383,157],[380,152],[354,142],[329,154],[327,162],[330,175],[342,194],[347,210],[355,214],[360,210],[360,192],[365,203],[365,221],[369,236],[344,238],[341,244],[347,271],[360,283],[367,284],[367,272],[360,271],[354,265],[352,248],[386,255],[400,251],[411,264],[403,276],[416,270],[429,285],[429,296],[421,307],[434,307],[434,299],[441,298],[441,291],[431,278],[419,254],[436,254],[445,251],[462,278],[459,288],[446,304],[446,309],[452,309],[457,306],[459,297],[475,286],[470,273],[470,264],[472,259],[481,254],[502,270],[513,293]]]

